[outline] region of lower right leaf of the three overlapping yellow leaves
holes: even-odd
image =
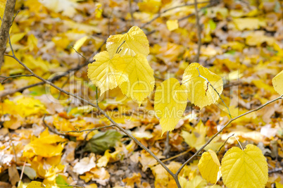
[[[122,56],[122,60],[124,62],[117,66],[120,72],[119,87],[123,94],[140,105],[153,91],[155,84],[153,70],[142,54]],[[124,75],[127,75],[126,82]]]

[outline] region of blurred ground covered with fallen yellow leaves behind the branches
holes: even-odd
[[[277,98],[272,78],[283,65],[283,1],[198,2],[199,63],[222,77],[221,97],[232,118]],[[94,104],[99,89],[87,77],[89,62],[84,57],[92,60],[105,50],[110,35],[123,34],[134,25],[144,30],[156,83],[169,77],[181,81],[185,68],[196,61],[194,1],[19,0],[15,10],[19,11],[11,27],[15,56],[37,75]],[[12,55],[10,47],[6,53]],[[0,187],[27,187],[32,180],[54,187],[176,187],[149,153],[108,126],[112,124],[96,108],[25,75],[29,75],[25,68],[5,56]],[[229,121],[220,99],[204,108],[189,101],[166,142],[154,114],[154,92],[141,106],[119,88],[98,98],[100,108],[172,172]],[[266,187],[283,187],[282,105],[278,100],[234,120],[205,150],[222,158],[232,146],[256,145],[268,161]],[[83,131],[99,127],[103,128]],[[183,187],[213,186],[201,177],[200,157],[180,173]],[[225,187],[222,179],[214,187]]]

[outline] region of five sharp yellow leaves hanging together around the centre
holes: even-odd
[[[169,20],[168,27],[176,29],[176,20]],[[149,54],[146,35],[134,26],[124,35],[111,35],[106,48],[107,51],[96,54],[94,63],[89,64],[89,79],[99,88],[100,95],[120,87],[122,94],[141,105],[155,85],[153,70],[146,59]],[[221,77],[199,63],[191,63],[186,68],[182,85],[175,78],[165,80],[156,89],[154,101],[156,116],[161,118],[162,134],[174,130],[182,118],[187,99],[203,108],[218,101],[222,89]]]

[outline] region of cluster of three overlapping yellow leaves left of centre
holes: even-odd
[[[149,41],[139,27],[132,27],[124,35],[111,35],[107,51],[94,56],[87,75],[99,87],[101,94],[120,87],[123,94],[142,104],[154,88],[153,70],[146,60]]]

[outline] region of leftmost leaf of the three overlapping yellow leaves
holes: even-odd
[[[125,81],[125,75],[117,73],[116,66],[125,64],[118,54],[113,58],[109,57],[107,51],[102,51],[94,56],[94,63],[89,64],[87,76],[92,82],[99,87],[101,94],[113,89]],[[122,63],[121,63],[122,61]]]

